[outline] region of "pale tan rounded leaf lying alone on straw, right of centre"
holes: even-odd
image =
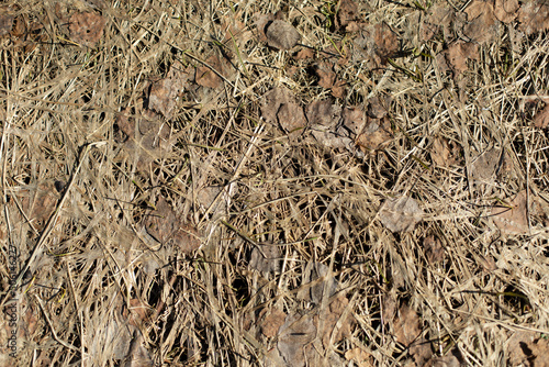
[[[407,197],[386,199],[379,212],[381,223],[391,232],[411,232],[422,221],[423,210]]]

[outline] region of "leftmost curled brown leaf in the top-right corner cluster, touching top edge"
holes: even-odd
[[[473,0],[464,10],[467,23],[463,34],[480,44],[489,43],[496,36],[494,7],[491,2]]]

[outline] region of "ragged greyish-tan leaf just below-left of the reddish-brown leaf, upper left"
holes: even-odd
[[[166,78],[154,82],[148,93],[148,108],[161,113],[167,120],[173,116],[177,98],[183,90],[189,78],[189,71],[176,62],[171,65]]]

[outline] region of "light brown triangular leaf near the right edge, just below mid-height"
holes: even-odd
[[[506,234],[526,234],[529,232],[528,226],[528,202],[526,190],[516,194],[509,202],[508,207],[498,205],[492,210],[492,220],[494,224]]]

